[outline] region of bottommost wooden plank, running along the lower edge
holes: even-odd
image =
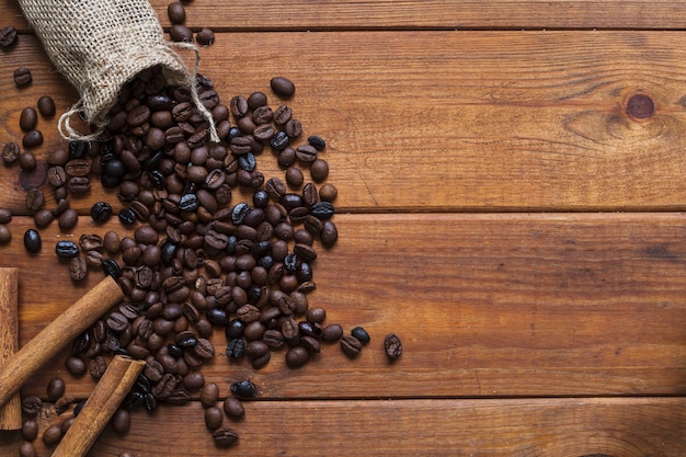
[[[58,422],[42,416],[43,426]],[[239,434],[227,450],[214,446],[192,402],[135,412],[126,436],[107,427],[89,455],[677,457],[684,420],[677,398],[253,401],[243,421],[225,419]],[[46,455],[39,439],[36,447]]]

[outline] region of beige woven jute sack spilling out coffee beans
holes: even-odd
[[[215,133],[211,115],[199,103],[195,90],[197,49],[192,44],[173,44],[195,49],[196,68],[192,73],[164,39],[148,0],[19,0],[19,3],[57,70],[81,96],[59,119],[62,137],[98,139],[122,87],[155,66],[162,68],[168,83],[191,89],[196,106],[210,122],[210,134]],[[95,132],[90,135],[75,132],[69,124],[75,114],[94,126]]]

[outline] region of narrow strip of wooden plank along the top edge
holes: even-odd
[[[169,26],[169,0],[153,0],[160,21]],[[2,2],[2,18],[28,30],[16,2]],[[350,30],[350,28],[683,28],[683,1],[316,1],[287,5],[238,0],[217,8],[210,0],[186,4],[186,24],[217,31]]]

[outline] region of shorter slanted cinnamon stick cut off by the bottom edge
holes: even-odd
[[[130,391],[145,365],[145,361],[115,356],[83,409],[55,448],[53,457],[84,456]]]

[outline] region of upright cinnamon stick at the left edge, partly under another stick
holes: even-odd
[[[18,271],[0,269],[0,364],[19,351]],[[19,392],[0,405],[0,430],[22,427],[22,407]]]

